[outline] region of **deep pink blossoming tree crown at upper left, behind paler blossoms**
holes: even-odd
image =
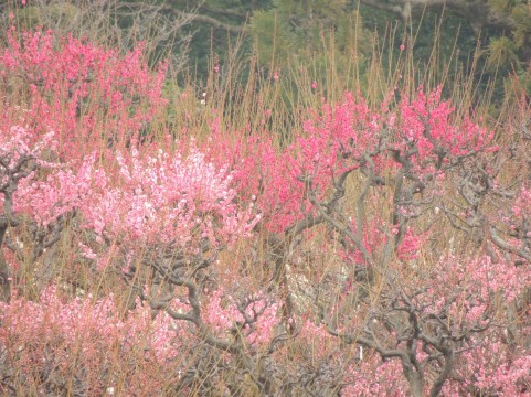
[[[34,139],[54,131],[62,160],[139,138],[164,105],[166,64],[152,74],[141,45],[121,56],[50,31],[7,34],[8,46],[0,53],[2,90],[18,88],[2,116],[22,107],[17,125]]]

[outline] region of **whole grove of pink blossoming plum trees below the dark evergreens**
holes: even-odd
[[[176,139],[150,129],[166,64],[141,46],[15,33],[0,389],[529,394],[527,129],[495,137],[420,87],[379,107],[346,93],[284,144],[215,124]]]

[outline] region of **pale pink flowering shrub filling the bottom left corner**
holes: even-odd
[[[167,387],[168,373],[161,368],[183,348],[164,313],[153,319],[150,310],[137,305],[121,315],[113,296],[70,300],[55,287],[43,290],[36,301],[13,297],[11,303],[1,303],[0,321],[0,345],[9,352],[2,371],[14,371],[26,391],[60,393],[74,379],[70,387],[77,394],[104,395],[109,388],[149,394]],[[129,362],[139,365],[124,383]],[[4,385],[0,389],[8,393]]]

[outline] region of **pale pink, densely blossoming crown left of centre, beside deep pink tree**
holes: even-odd
[[[136,245],[176,247],[201,239],[232,245],[249,236],[259,216],[252,205],[235,204],[226,167],[208,163],[194,148],[185,158],[162,150],[153,154],[116,153],[116,174],[99,182],[102,196],[85,210],[87,227]]]

